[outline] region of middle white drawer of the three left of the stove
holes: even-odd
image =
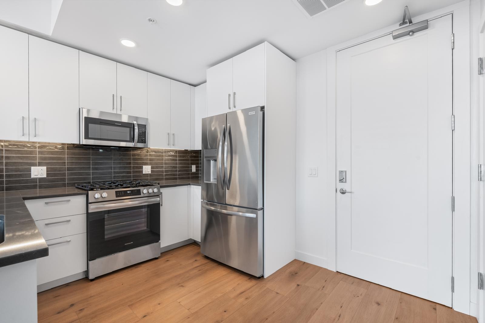
[[[72,236],[86,232],[86,214],[77,214],[35,221],[44,240]]]

